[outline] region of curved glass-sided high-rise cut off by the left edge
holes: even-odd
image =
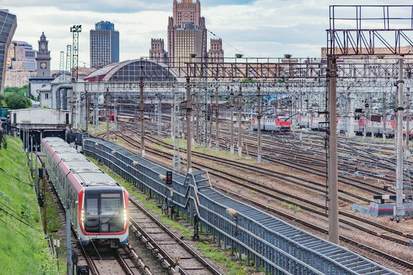
[[[6,75],[6,65],[8,48],[12,42],[14,32],[17,28],[17,18],[10,14],[8,10],[0,10],[0,93],[4,93],[4,76]]]

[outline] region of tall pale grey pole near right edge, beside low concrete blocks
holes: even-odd
[[[403,58],[399,59],[399,83],[398,102],[397,102],[397,142],[396,142],[396,207],[394,216],[404,215],[403,210]]]

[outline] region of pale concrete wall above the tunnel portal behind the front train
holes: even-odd
[[[66,114],[69,115],[68,123],[66,123]],[[44,108],[19,109],[10,111],[10,119],[12,124],[66,125],[72,122],[72,113]]]

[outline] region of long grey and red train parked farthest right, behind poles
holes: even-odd
[[[389,119],[390,118],[390,119]],[[383,135],[383,122],[374,122],[366,118],[351,119],[353,124],[354,133],[357,135],[363,135],[366,126],[366,135]],[[328,124],[322,123],[326,122],[326,117],[324,116],[312,116],[312,115],[298,115],[297,122],[299,127],[308,127],[313,131],[325,131]],[[321,123],[320,123],[321,122]],[[347,132],[348,118],[337,118],[337,133]],[[409,138],[413,137],[413,121],[410,121],[410,131]],[[406,121],[403,120],[403,135],[406,135]],[[385,121],[385,135],[386,137],[394,137],[396,131],[396,121],[395,118],[388,115],[388,119]]]

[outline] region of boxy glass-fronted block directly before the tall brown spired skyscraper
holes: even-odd
[[[175,30],[175,65],[184,67],[187,62],[199,62],[202,57],[202,30],[195,24],[185,23]]]

